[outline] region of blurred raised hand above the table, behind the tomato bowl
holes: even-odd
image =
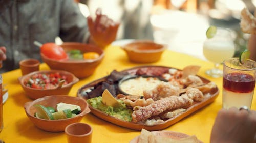
[[[96,10],[96,19],[87,17],[92,42],[104,48],[116,39],[119,23],[115,23],[106,15],[101,14],[101,9]]]

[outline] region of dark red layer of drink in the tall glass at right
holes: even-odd
[[[253,76],[244,73],[229,73],[223,77],[223,88],[237,93],[252,92],[255,87]]]

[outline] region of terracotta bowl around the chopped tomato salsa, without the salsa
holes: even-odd
[[[58,72],[60,75],[65,75],[67,77],[68,84],[62,85],[61,87],[55,88],[55,89],[35,89],[35,88],[27,87],[24,84],[25,81],[28,81],[32,75],[39,74],[39,73],[50,74],[50,73],[56,73],[56,72]],[[18,80],[20,85],[22,85],[22,88],[25,94],[31,99],[37,99],[37,98],[41,98],[48,95],[68,95],[72,86],[79,81],[79,79],[75,77],[72,73],[67,71],[61,71],[61,70],[35,71],[27,75],[24,75],[22,77],[19,77]]]

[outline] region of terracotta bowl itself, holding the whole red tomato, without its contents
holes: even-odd
[[[91,60],[54,60],[47,58],[44,54],[41,53],[42,61],[44,61],[51,69],[69,71],[78,78],[85,78],[92,75],[104,57],[103,50],[95,45],[66,42],[60,46],[66,52],[77,49],[83,53],[97,52],[100,55],[98,58]]]

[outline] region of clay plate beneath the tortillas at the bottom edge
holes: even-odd
[[[181,139],[181,138],[189,137],[189,135],[184,134],[184,133],[174,132],[174,131],[165,131],[165,130],[163,130],[163,131],[152,131],[151,133],[153,133],[154,135],[157,135],[157,136],[163,136],[163,137],[172,138],[172,139]],[[136,136],[134,139],[132,139],[130,141],[130,143],[138,143],[139,142],[139,137],[140,136]]]

